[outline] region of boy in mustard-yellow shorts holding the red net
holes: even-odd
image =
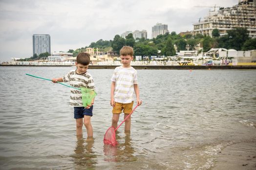
[[[141,105],[140,93],[137,81],[137,71],[131,67],[130,62],[133,60],[133,49],[124,46],[120,50],[122,66],[115,68],[111,81],[110,105],[112,110],[112,126],[117,128],[117,122],[122,111],[125,113],[124,119],[132,111],[133,91],[136,94],[136,103]],[[125,131],[130,130],[131,117],[125,121]]]

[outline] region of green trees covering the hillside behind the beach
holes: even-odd
[[[119,54],[119,51],[123,46],[130,46],[133,47],[135,56],[174,56],[176,55],[174,44],[179,52],[185,51],[186,47],[189,47],[189,50],[194,50],[195,46],[199,43],[203,47],[203,52],[209,51],[212,48],[235,49],[237,51],[256,49],[256,38],[250,38],[249,32],[246,28],[228,30],[227,34],[223,36],[220,36],[218,29],[214,29],[212,37],[201,34],[196,34],[195,36],[192,36],[191,34],[180,36],[175,32],[171,32],[171,34],[166,33],[158,35],[156,38],[152,39],[136,38],[135,40],[131,33],[128,34],[126,38],[117,34],[114,36],[113,40],[108,41],[100,39],[97,42],[92,42],[88,47],[98,48],[99,51],[115,51]],[[86,51],[86,48],[88,47],[69,50],[67,52],[73,53],[73,56],[76,57],[78,53]],[[161,52],[159,53],[158,51]],[[35,54],[33,57],[21,59],[20,61],[33,61],[42,57],[48,57],[49,55],[50,54],[48,52],[42,53],[39,56]]]

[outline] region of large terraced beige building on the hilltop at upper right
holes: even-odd
[[[249,36],[256,38],[256,0],[239,0],[233,7],[219,8],[209,12],[203,21],[193,24],[192,35],[212,36],[213,29],[220,35],[227,34],[235,27],[246,27]]]

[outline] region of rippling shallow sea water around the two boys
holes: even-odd
[[[0,169],[211,170],[232,145],[256,141],[256,70],[137,70],[143,104],[116,147],[112,69],[89,69],[97,88],[94,137],[77,139],[69,88],[44,78],[74,67],[0,67]],[[123,116],[120,116],[120,122]]]

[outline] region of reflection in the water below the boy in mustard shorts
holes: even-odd
[[[125,142],[118,142],[117,146],[104,145],[104,154],[107,156],[104,158],[107,162],[131,162],[136,161],[137,158],[133,156],[134,148],[130,138],[130,132],[125,132]],[[120,141],[121,137],[116,134],[116,140]]]

